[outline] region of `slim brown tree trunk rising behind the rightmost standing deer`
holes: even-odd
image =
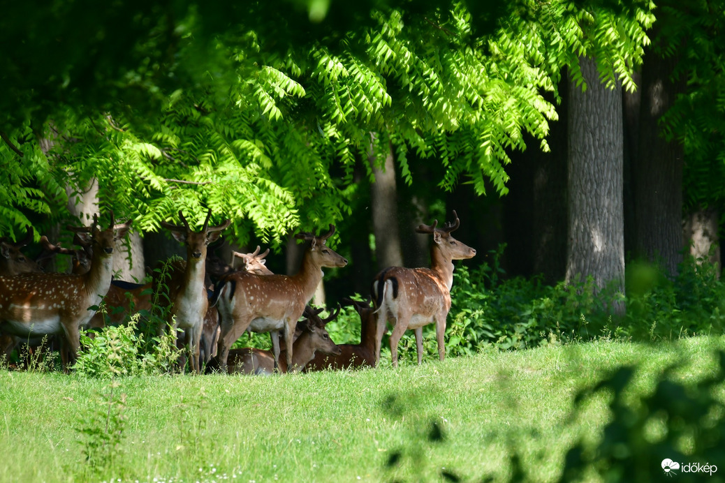
[[[398,228],[397,189],[392,148],[388,147],[383,169],[376,167],[373,152],[370,152],[369,161],[375,175],[375,182],[370,187],[370,204],[373,209],[373,232],[375,233],[375,255],[378,270],[388,266],[402,266],[403,256]]]

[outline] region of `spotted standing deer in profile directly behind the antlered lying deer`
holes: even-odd
[[[237,272],[229,275],[218,288],[218,309],[221,334],[217,356],[224,367],[231,345],[247,329],[271,332],[276,364],[279,364],[279,332],[284,332],[286,363],[292,366],[293,337],[297,320],[305,311],[323,277],[322,268],[341,267],[347,260],[326,246],[334,235],[331,224],[325,235],[298,233],[298,240],[310,241],[302,258],[302,268],[293,276],[258,275]]]

